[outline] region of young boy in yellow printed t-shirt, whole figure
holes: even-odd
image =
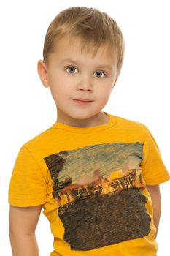
[[[39,77],[57,108],[52,127],[25,143],[9,186],[14,256],[39,255],[39,214],[51,256],[155,256],[159,184],[169,173],[144,124],[101,110],[123,63],[115,20],[88,7],[59,13],[47,29]]]

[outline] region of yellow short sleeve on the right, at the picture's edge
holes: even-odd
[[[145,127],[145,126],[144,126]],[[163,163],[161,152],[150,130],[146,129],[147,154],[144,164],[142,165],[142,173],[146,184],[155,185],[165,181],[169,181],[169,172]]]

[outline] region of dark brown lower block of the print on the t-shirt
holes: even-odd
[[[140,189],[125,189],[61,206],[64,240],[71,249],[90,250],[147,236],[151,219],[146,201]]]

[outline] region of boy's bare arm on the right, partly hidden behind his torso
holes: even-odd
[[[152,207],[153,207],[153,221],[154,225],[156,227],[156,234],[155,238],[158,234],[158,226],[159,226],[159,220],[161,217],[161,192],[158,185],[147,185],[147,190],[150,193],[151,199],[152,199]]]

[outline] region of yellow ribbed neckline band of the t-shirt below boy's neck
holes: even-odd
[[[108,129],[108,128],[112,127],[117,122],[117,116],[113,116],[113,115],[111,115],[111,114],[109,114],[105,111],[104,111],[104,113],[107,116],[109,116],[109,121],[107,122],[107,124],[100,124],[100,125],[95,126],[95,127],[74,127],[74,126],[59,123],[58,121],[56,121],[55,124],[53,124],[53,126],[51,128],[52,129],[63,129],[66,132],[75,132],[75,133],[98,132],[98,131],[101,131],[101,130]]]

